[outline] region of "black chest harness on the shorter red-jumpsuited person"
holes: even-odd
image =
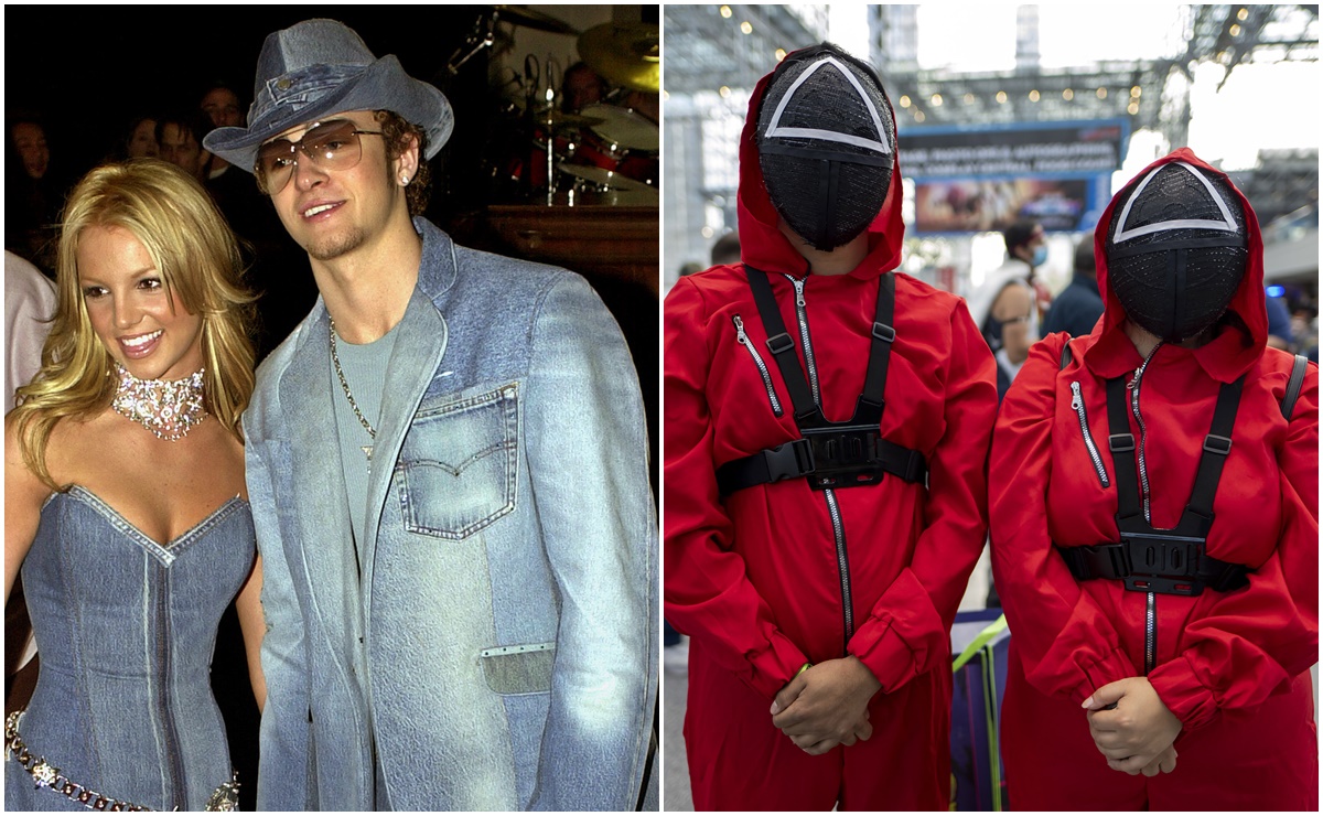
[[[1070,360],[1066,344],[1061,368]],[[1282,413],[1290,421],[1304,380],[1304,358],[1297,356]],[[1217,391],[1213,422],[1204,438],[1204,450],[1195,475],[1195,487],[1180,522],[1170,529],[1155,529],[1139,503],[1139,480],[1135,475],[1135,438],[1130,434],[1126,409],[1126,381],[1107,381],[1107,447],[1111,448],[1117,472],[1117,528],[1119,544],[1057,548],[1070,573],[1080,581],[1111,578],[1125,582],[1127,590],[1166,595],[1199,595],[1204,587],[1228,592],[1249,583],[1250,567],[1209,557],[1204,548],[1213,525],[1213,499],[1222,466],[1232,450],[1232,427],[1240,406],[1245,374],[1222,384]]]

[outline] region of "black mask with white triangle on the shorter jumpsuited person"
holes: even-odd
[[[1126,316],[1167,343],[1212,328],[1249,258],[1230,185],[1172,161],[1122,190],[1107,227],[1107,276]]]

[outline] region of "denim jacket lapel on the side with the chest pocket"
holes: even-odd
[[[386,385],[381,394],[381,418],[377,425],[377,438],[372,451],[372,473],[368,477],[368,522],[364,546],[366,573],[363,577],[368,587],[364,614],[372,610],[372,570],[376,558],[377,532],[381,514],[388,500],[390,480],[404,447],[405,434],[418,413],[427,386],[431,384],[446,353],[447,328],[435,304],[421,288],[414,288],[409,307],[400,321],[400,336],[386,366]],[[378,466],[380,464],[380,466]],[[370,618],[369,618],[370,619]]]

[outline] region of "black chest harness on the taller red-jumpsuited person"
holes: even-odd
[[[873,485],[882,480],[882,473],[900,476],[905,481],[926,483],[927,462],[923,454],[881,436],[882,411],[886,410],[882,391],[886,389],[886,366],[896,340],[896,329],[892,328],[896,312],[894,278],[884,274],[877,286],[877,316],[868,353],[868,374],[864,391],[855,405],[855,415],[845,422],[828,422],[822,407],[814,402],[767,274],[747,265],[745,274],[767,332],[767,349],[790,391],[795,425],[803,436],[718,467],[717,488],[721,495],[729,496],[747,487],[799,477],[807,477],[808,485],[815,491]]]

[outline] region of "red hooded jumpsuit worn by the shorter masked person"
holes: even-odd
[[[1188,149],[1151,167],[1177,159],[1222,176]],[[1248,333],[1224,319],[1201,348],[1159,347],[1142,378],[1143,426],[1127,411],[1131,455],[1144,450],[1152,525],[1172,528],[1191,496],[1218,386],[1248,372],[1207,553],[1253,567],[1249,586],[1155,595],[1148,680],[1183,726],[1171,774],[1109,768],[1080,708],[1099,686],[1143,673],[1147,594],[1107,578],[1076,581],[1053,551],[1053,542],[1118,541],[1105,381],[1130,382],[1142,358],[1122,331],[1125,312],[1107,278],[1115,200],[1094,239],[1102,319],[1091,335],[1070,341],[1065,370],[1065,335],[1035,345],[1002,405],[990,513],[992,569],[1012,632],[1002,753],[1016,809],[1318,808],[1308,674],[1318,661],[1318,366],[1308,366],[1285,419],[1279,403],[1293,358],[1265,348],[1263,242],[1253,210],[1236,194],[1249,261],[1229,311]],[[1085,421],[1072,407],[1076,384]],[[1110,487],[1101,484],[1082,423]]]

